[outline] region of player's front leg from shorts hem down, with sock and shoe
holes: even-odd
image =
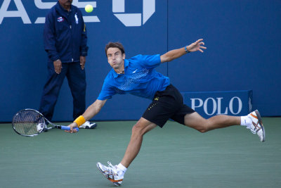
[[[127,146],[124,157],[119,163],[119,165],[112,165],[110,162],[108,163],[108,167],[103,165],[102,163],[97,163],[98,170],[102,173],[108,180],[113,182],[116,186],[121,185],[124,174],[126,173],[126,169],[129,167],[134,158],[138,155],[138,152],[141,149],[141,144],[143,142],[143,135],[146,132],[149,132],[157,125],[155,123],[151,123],[145,118],[141,118],[138,120],[136,125],[133,126],[131,140],[129,145]]]

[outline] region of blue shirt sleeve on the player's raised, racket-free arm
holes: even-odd
[[[152,69],[156,68],[161,63],[160,55],[138,55],[131,58],[133,61],[137,61],[142,67]]]

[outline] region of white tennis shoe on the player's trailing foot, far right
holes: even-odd
[[[247,128],[251,130],[253,134],[258,134],[259,139],[261,139],[261,142],[266,141],[266,130],[263,127],[263,123],[261,121],[261,115],[259,114],[259,111],[253,111],[247,115],[248,118],[251,118],[251,125],[249,125]]]

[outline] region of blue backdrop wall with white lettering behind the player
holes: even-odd
[[[0,122],[22,108],[39,108],[46,82],[44,16],[56,1],[0,0]],[[88,29],[86,106],[110,70],[104,46],[124,44],[126,57],[164,54],[203,38],[207,50],[160,65],[181,92],[252,90],[253,108],[281,115],[281,1],[73,0]],[[92,13],[84,6],[92,4]],[[148,99],[116,95],[93,120],[136,120]],[[53,120],[72,120],[65,80]]]

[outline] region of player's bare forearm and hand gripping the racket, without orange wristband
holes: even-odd
[[[91,106],[89,106],[82,115],[84,117],[85,121],[90,120],[91,118],[93,118],[93,116],[95,116],[97,113],[99,113],[100,109],[103,108],[106,101],[107,101],[107,99],[105,99],[103,101],[100,101],[97,99],[93,104],[91,104]],[[76,130],[74,130],[73,128],[78,127],[77,123],[75,123],[75,122],[73,122],[72,124],[70,124],[68,126],[70,126],[70,131],[66,131],[66,132],[76,132]]]

